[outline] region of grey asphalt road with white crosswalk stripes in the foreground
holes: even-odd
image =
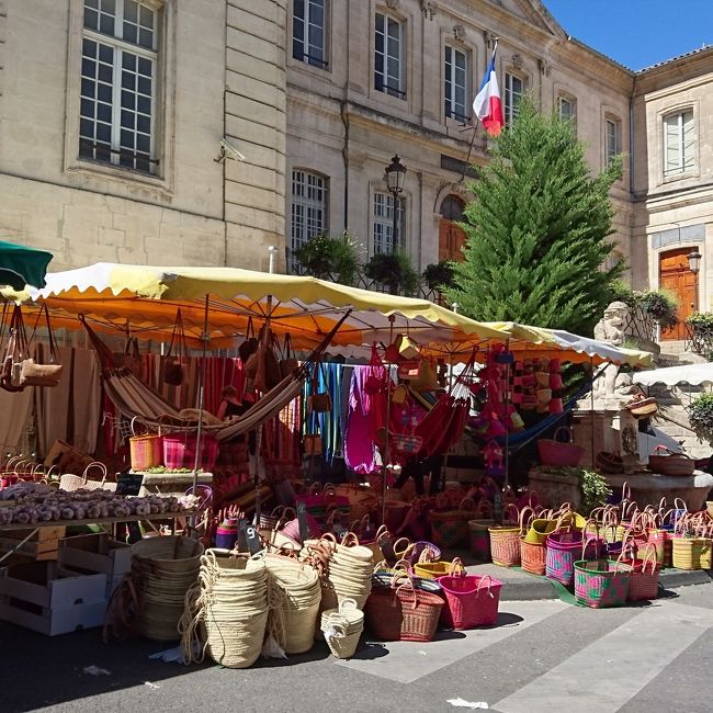
[[[47,638],[0,624],[0,712],[431,713],[468,710],[446,702],[461,698],[500,713],[710,713],[713,585],[600,611],[503,601],[496,627],[429,644],[366,638],[350,661],[322,643],[247,670],[149,659],[163,648],[142,640],[106,645],[98,630]]]

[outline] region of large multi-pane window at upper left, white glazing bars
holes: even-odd
[[[154,173],[157,12],[84,0],[79,156]]]

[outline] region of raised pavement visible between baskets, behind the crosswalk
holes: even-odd
[[[536,599],[557,599],[557,591],[546,577],[539,577],[523,571],[520,567],[498,567],[493,563],[485,565],[471,564],[473,555],[467,551],[449,552],[444,559],[461,557],[469,574],[490,575],[502,582],[501,601],[528,601]],[[676,589],[690,585],[710,585],[712,573],[706,569],[663,569],[660,585],[664,589]]]

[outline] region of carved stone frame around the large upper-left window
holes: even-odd
[[[83,42],[84,0],[69,0],[69,33],[67,52],[67,94],[65,104],[64,170],[103,179],[107,183],[140,185],[156,197],[172,196],[174,191],[176,129],[176,9],[168,0],[140,0],[157,12],[157,59],[155,78],[154,158],[159,163],[156,173],[137,171],[79,156],[79,107]]]

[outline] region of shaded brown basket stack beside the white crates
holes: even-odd
[[[178,535],[148,537],[132,546],[139,635],[158,642],[180,638],[185,593],[197,580],[202,554],[197,540]]]

